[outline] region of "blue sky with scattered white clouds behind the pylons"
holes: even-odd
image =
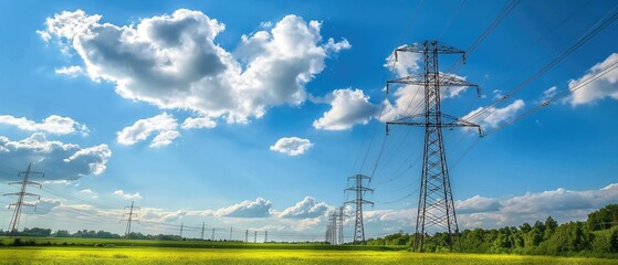
[[[380,106],[386,81],[422,62],[387,59],[425,40],[468,50],[507,3],[2,2],[0,191],[14,191],[6,183],[32,162],[46,174],[43,198],[21,226],[119,233],[135,200],[146,221],[135,230],[146,233],[206,222],[313,240],[346,200],[346,178],[375,168],[367,233],[413,231],[422,129],[386,137],[383,121],[420,97],[394,87]],[[482,97],[451,91],[443,110],[489,106],[615,6],[521,1],[453,73]],[[618,71],[568,93],[618,60],[617,32],[605,28],[473,121],[491,130],[549,106],[480,140],[444,131],[462,226],[582,220],[618,201]],[[440,60],[447,71],[457,57]],[[0,212],[0,227],[11,213]]]

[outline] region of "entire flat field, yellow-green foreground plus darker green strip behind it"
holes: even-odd
[[[45,246],[8,246],[0,237],[1,264],[470,264],[615,265],[618,259],[495,254],[411,253],[405,246],[252,244],[210,241],[147,241],[22,237]]]

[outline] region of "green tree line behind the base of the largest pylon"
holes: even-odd
[[[449,251],[448,234],[425,235],[423,252]],[[369,239],[368,245],[412,246],[415,235],[397,233]],[[467,253],[515,253],[535,255],[618,254],[618,204],[610,204],[590,214],[585,222],[558,223],[548,216],[545,222],[523,223],[501,229],[464,230],[455,240]]]

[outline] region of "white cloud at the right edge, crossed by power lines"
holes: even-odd
[[[568,88],[573,92],[570,105],[591,104],[606,97],[618,99],[618,68],[614,65],[617,62],[618,53],[612,53],[605,61],[595,64],[584,76],[569,81]],[[593,76],[606,71],[607,74],[590,82]],[[577,89],[578,87],[582,88]]]

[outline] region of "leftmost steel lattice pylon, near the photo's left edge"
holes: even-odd
[[[22,172],[18,173],[18,178],[23,174],[23,180],[22,181],[9,182],[9,184],[21,184],[20,192],[4,194],[4,195],[17,195],[18,197],[18,201],[15,203],[9,204],[9,209],[11,209],[11,206],[15,208],[15,210],[13,211],[13,216],[11,218],[11,223],[9,224],[9,231],[11,232],[11,234],[10,234],[11,237],[18,232],[19,220],[21,218],[21,208],[22,206],[33,206],[34,211],[36,211],[36,205],[34,205],[33,203],[24,202],[23,198],[24,197],[36,197],[38,199],[41,199],[41,195],[34,194],[34,193],[29,193],[29,192],[25,191],[28,186],[39,187],[39,189],[41,189],[41,187],[42,187],[41,183],[33,182],[33,181],[29,180],[31,174],[41,174],[42,178],[45,177],[44,173],[32,171],[31,168],[32,168],[32,163],[29,163],[28,169],[25,171],[22,171]]]

